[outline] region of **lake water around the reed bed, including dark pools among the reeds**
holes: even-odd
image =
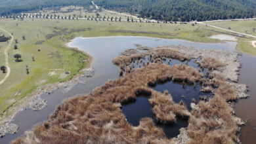
[[[139,44],[142,46],[163,46],[163,45],[184,45],[184,46],[193,46],[195,48],[219,48],[225,50],[234,50],[236,47],[236,42],[226,42],[226,43],[192,43],[189,41],[183,41],[179,39],[161,39],[161,41],[155,41],[156,38],[150,37],[95,37],[95,38],[82,38],[77,37],[69,43],[69,46],[77,47],[80,50],[85,50],[91,56],[93,56],[93,62],[91,67],[95,69],[95,76],[93,78],[87,79],[85,84],[77,84],[73,88],[71,88],[68,92],[63,92],[63,89],[60,88],[53,92],[52,94],[43,94],[42,98],[47,99],[48,105],[45,109],[41,111],[20,111],[14,117],[14,124],[19,126],[18,132],[16,134],[7,134],[5,137],[0,138],[0,143],[9,143],[12,139],[16,139],[17,137],[22,136],[26,130],[32,130],[33,126],[38,124],[39,122],[43,122],[47,120],[48,115],[53,113],[56,105],[59,105],[63,99],[70,98],[73,96],[77,96],[77,94],[88,94],[93,91],[93,89],[97,86],[102,86],[104,82],[109,79],[117,79],[119,75],[119,67],[112,64],[113,58],[117,56],[119,52],[126,50],[127,48],[136,48],[135,44]],[[256,58],[243,55],[240,56],[240,61],[242,62],[242,69],[240,73],[239,82],[247,84],[251,91],[251,98],[239,100],[236,104],[236,114],[238,117],[241,117],[243,120],[251,117],[250,126],[244,126],[242,128],[242,142],[244,143],[253,143],[256,141],[256,131],[253,130],[253,126],[256,126],[256,77],[255,77],[255,68],[256,68]],[[176,86],[174,89],[172,86]],[[196,85],[197,86],[197,85]],[[171,88],[171,89],[170,89]],[[157,84],[154,89],[160,92],[167,89],[173,96],[175,102],[179,101],[179,96],[185,95],[185,103],[189,105],[190,99],[192,97],[198,96],[198,88],[194,88],[193,86],[186,86],[187,90],[182,90],[181,84],[173,84],[173,82],[167,82],[165,84]],[[184,94],[180,93],[184,92]],[[188,94],[186,94],[188,92]],[[191,96],[191,98],[190,98]],[[196,97],[198,98],[198,97]],[[137,105],[138,102],[143,103],[143,105]],[[143,107],[141,107],[143,106]],[[138,113],[131,113],[129,109],[133,109],[133,107],[142,108]],[[141,115],[143,117],[152,117],[152,108],[148,103],[148,98],[139,97],[135,103],[131,103],[129,105],[123,105],[123,111],[125,115]],[[135,116],[129,116],[129,118],[134,118],[133,121],[129,121],[133,124],[139,124],[138,118]],[[254,121],[253,121],[254,120]],[[168,126],[171,130],[177,129],[186,126],[186,122],[177,120],[177,127]],[[160,126],[161,127],[161,126]],[[165,126],[163,126],[165,127]],[[161,127],[161,128],[163,128]],[[177,134],[171,133],[169,134],[165,128],[163,128],[165,134],[169,137],[173,137]],[[176,132],[176,131],[175,131]],[[178,133],[179,134],[179,133]],[[253,136],[254,135],[254,136]]]

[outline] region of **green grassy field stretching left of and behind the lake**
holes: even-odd
[[[77,36],[97,37],[112,35],[138,35],[168,39],[186,39],[189,41],[214,43],[219,40],[207,38],[217,34],[211,27],[199,24],[156,24],[140,22],[95,22],[88,20],[24,19],[0,20],[3,29],[13,33],[18,39],[18,50],[9,51],[11,75],[0,86],[0,114],[10,115],[10,107],[17,106],[20,99],[30,97],[37,87],[68,81],[79,69],[87,66],[88,59],[81,52],[66,48],[68,39]],[[22,36],[26,39],[23,40]],[[4,47],[5,43],[0,43]],[[0,49],[2,50],[2,48]],[[40,51],[39,51],[40,50]],[[22,62],[14,61],[14,54],[22,55]],[[35,61],[32,60],[34,57]],[[3,56],[0,55],[0,60]],[[1,61],[2,63],[2,61]],[[30,73],[26,73],[26,65]],[[70,71],[68,77],[60,77]],[[3,77],[2,74],[0,77]]]

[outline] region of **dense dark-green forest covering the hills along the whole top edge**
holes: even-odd
[[[256,16],[255,0],[95,0],[95,3],[104,9],[167,21],[203,21]],[[91,0],[0,0],[0,14],[68,5],[89,6]]]

